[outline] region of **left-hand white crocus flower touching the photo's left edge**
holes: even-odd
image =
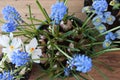
[[[2,52],[7,54],[9,60],[11,60],[13,51],[21,49],[22,41],[20,38],[13,38],[13,34],[10,33],[10,36],[0,36],[0,45],[4,47],[2,48]]]

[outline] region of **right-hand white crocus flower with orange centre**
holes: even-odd
[[[31,55],[31,58],[35,63],[40,63],[40,56],[42,56],[42,50],[37,49],[38,42],[36,38],[33,38],[28,45],[26,45],[26,52]],[[36,60],[35,60],[36,59]],[[38,59],[38,60],[37,60]]]

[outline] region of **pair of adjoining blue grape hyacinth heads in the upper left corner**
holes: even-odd
[[[16,30],[17,21],[20,21],[20,14],[16,11],[14,7],[6,6],[2,10],[4,19],[7,21],[2,27],[1,30],[4,32],[13,32]]]

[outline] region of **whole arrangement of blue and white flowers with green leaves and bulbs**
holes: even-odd
[[[106,6],[97,7],[102,1]],[[34,18],[28,5],[29,23],[14,7],[8,5],[3,8],[5,21],[1,21],[0,80],[28,80],[34,63],[40,66],[40,74],[47,75],[50,80],[70,77],[94,80],[88,72],[92,68],[99,69],[94,64],[99,63],[95,58],[120,50],[120,26],[106,27],[116,20],[107,11],[106,0],[94,0],[91,7],[84,7],[82,11],[90,13],[85,21],[68,14],[67,2],[58,0],[52,5],[49,15],[36,0],[46,20]],[[115,4],[120,5],[119,2]]]

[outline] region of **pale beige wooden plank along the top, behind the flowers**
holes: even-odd
[[[27,5],[31,5],[32,14],[38,19],[44,19],[43,15],[38,9],[38,6],[35,2],[36,0],[0,0],[0,11],[6,5],[11,5],[17,9],[21,14],[22,18],[26,20],[26,15],[28,15]],[[56,2],[56,0],[39,0],[42,6],[46,9],[48,14],[50,14],[51,5]],[[69,0],[68,2],[69,13],[75,13],[77,17],[84,19],[85,14],[81,14],[81,9],[83,7],[83,0]],[[2,14],[0,13],[0,19],[2,19]],[[0,24],[2,25],[2,24]]]

